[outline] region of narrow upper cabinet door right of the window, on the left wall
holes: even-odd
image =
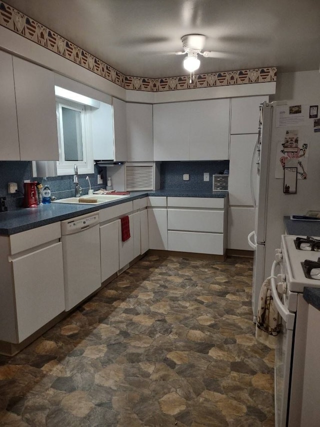
[[[112,98],[113,106],[113,133],[114,133],[114,160],[127,160],[126,134],[126,106],[125,102]]]

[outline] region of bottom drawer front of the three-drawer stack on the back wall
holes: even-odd
[[[223,234],[168,231],[168,250],[223,255]]]

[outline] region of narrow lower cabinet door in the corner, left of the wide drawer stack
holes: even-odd
[[[148,208],[149,248],[168,248],[166,208]]]

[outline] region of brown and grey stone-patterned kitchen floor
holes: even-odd
[[[148,254],[13,357],[1,426],[271,426],[252,260]]]

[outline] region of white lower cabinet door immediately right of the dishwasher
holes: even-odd
[[[100,226],[101,282],[119,269],[119,221]]]

